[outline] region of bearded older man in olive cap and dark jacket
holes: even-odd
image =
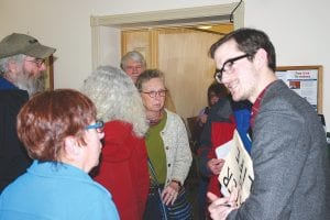
[[[29,96],[44,89],[45,58],[55,51],[26,34],[0,42],[0,194],[31,164],[16,135],[16,114]]]

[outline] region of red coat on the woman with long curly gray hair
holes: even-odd
[[[105,124],[99,173],[95,179],[112,195],[121,220],[143,217],[148,193],[147,154],[144,139],[123,121]]]

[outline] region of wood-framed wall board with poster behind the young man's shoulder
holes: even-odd
[[[282,66],[276,76],[322,113],[322,66]]]

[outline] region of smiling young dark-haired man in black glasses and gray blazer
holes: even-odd
[[[230,197],[208,194],[212,219],[328,219],[329,161],[326,134],[317,112],[275,76],[275,50],[258,30],[240,29],[216,42],[210,55],[216,79],[234,101],[252,107],[254,182],[250,197],[237,207]]]

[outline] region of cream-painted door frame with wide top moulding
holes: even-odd
[[[238,2],[141,13],[91,16],[92,68],[95,69],[100,64],[114,64],[114,66],[119,66],[118,64],[121,56],[119,45],[121,30],[229,22],[230,14],[237,6]],[[244,3],[241,3],[233,12],[233,24],[234,30],[244,26]],[[112,48],[105,47],[105,44],[109,45],[109,41],[113,41],[110,43]],[[116,61],[109,61],[107,58],[107,54],[109,53],[112,54],[110,57]]]

